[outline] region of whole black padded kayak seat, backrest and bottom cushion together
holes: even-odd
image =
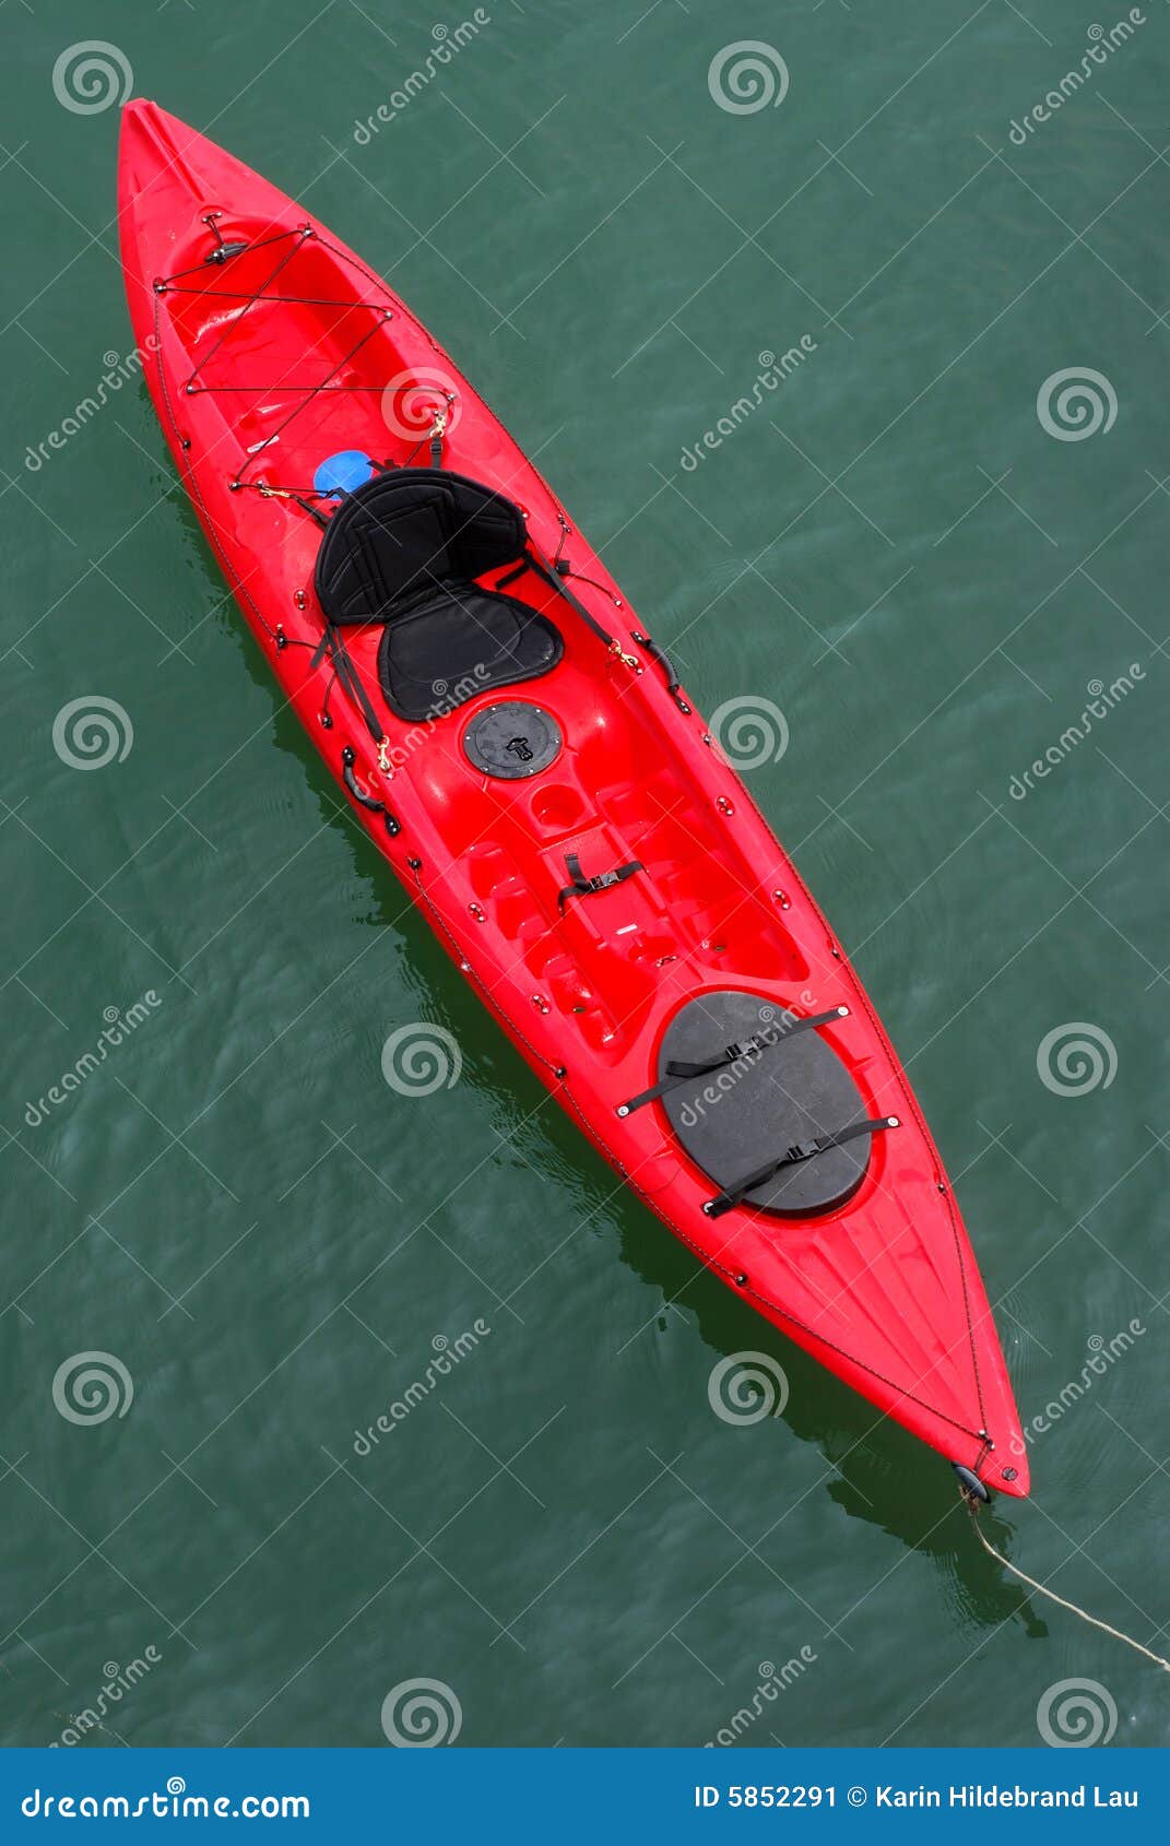
[[[520,561],[526,541],[511,500],[445,469],[391,469],[345,497],[317,552],[317,600],[334,629],[382,626],[395,716],[419,724],[557,665],[554,624],[476,581]]]

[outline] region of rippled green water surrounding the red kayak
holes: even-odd
[[[384,1746],[386,1695],[430,1678],[461,1744],[703,1743],[755,1698],[746,1743],[1039,1746],[1041,1698],[1089,1678],[1116,1743],[1157,1744],[1164,1680],[1030,1602],[945,1464],[696,1272],[480,1012],[279,709],[144,386],[26,449],[129,349],[116,109],[52,83],[98,35],[413,303],[705,709],[782,707],[753,794],[910,1065],[1048,1425],[1033,1501],[985,1527],[1164,1650],[1168,11],[1024,146],[1111,13],[487,11],[365,144],[434,13],[0,18],[4,1741],[142,1661],[90,1743]],[[734,39],[782,55],[777,107],[712,100]],[[1111,428],[1043,426],[1069,367]],[[94,694],[133,746],[79,772],[54,720]],[[380,1074],[413,1021],[463,1060],[428,1098]],[[1057,1095],[1037,1047],[1078,1021],[1105,1071]],[[124,1416],[55,1408],[87,1351]],[[782,1364],[781,1418],[712,1414],[740,1351]]]

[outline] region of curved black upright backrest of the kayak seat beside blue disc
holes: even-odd
[[[502,493],[443,469],[393,469],[334,513],[317,552],[317,598],[338,626],[388,622],[436,583],[511,563],[524,543],[524,515]]]

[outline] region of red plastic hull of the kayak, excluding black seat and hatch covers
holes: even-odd
[[[412,901],[517,1050],[620,1178],[771,1325],[987,1488],[1028,1462],[984,1283],[954,1193],[886,1032],[799,873],[668,685],[605,565],[410,308],[325,225],[157,105],[124,111],[120,231],[144,373],[179,474],[284,700]],[[225,253],[225,255],[221,255]],[[436,443],[437,434],[437,449]],[[555,620],[563,657],[496,690],[439,687],[395,718],[378,635],[347,631],[360,692],[321,659],[314,469],[334,452],[439,460],[520,506],[533,546],[572,565],[583,611],[535,576],[511,594]],[[421,450],[421,452],[419,452]],[[292,495],[292,497],[290,497]],[[332,685],[330,685],[332,679]],[[458,700],[456,700],[458,692]],[[550,768],[500,779],[465,735],[500,700],[554,720]],[[639,860],[567,905],[585,871]],[[659,1104],[659,1047],[698,995],[762,1013],[845,1008],[821,1028],[875,1133],[851,1196],[814,1218],[733,1205]]]

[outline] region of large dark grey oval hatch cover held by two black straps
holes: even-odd
[[[784,1013],[758,993],[703,993],[688,1001],[666,1028],[659,1078],[666,1076],[670,1061],[709,1063],[727,1047],[782,1023]],[[688,1078],[663,1097],[663,1108],[690,1159],[720,1189],[734,1187],[801,1141],[836,1133],[873,1113],[818,1028],[781,1037],[720,1071]],[[747,1193],[744,1204],[788,1218],[832,1211],[862,1183],[869,1145],[869,1135],[856,1135],[840,1148],[781,1167],[771,1180]]]

